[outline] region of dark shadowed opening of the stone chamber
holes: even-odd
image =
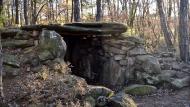
[[[67,53],[65,61],[72,64],[72,73],[81,76],[89,84],[97,84],[102,71],[102,38],[86,36],[65,36]]]

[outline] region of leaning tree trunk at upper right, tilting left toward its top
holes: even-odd
[[[158,7],[159,15],[160,15],[160,24],[161,24],[162,32],[164,33],[165,42],[166,42],[167,47],[171,49],[173,48],[173,44],[171,41],[172,33],[169,31],[169,26],[167,24],[166,15],[163,9],[163,0],[157,0],[157,7]]]

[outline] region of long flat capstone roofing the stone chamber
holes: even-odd
[[[22,30],[26,31],[41,31],[44,28],[55,30],[63,36],[108,36],[110,34],[121,34],[127,30],[127,27],[121,23],[68,23],[64,25],[29,25],[21,27]]]

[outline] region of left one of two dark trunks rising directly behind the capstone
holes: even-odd
[[[80,0],[74,0],[74,21],[80,22]]]

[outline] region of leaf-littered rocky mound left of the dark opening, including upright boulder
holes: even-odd
[[[28,33],[21,33],[23,36]],[[64,61],[67,45],[59,34],[43,30],[35,39],[3,41],[5,101],[9,106],[136,107],[125,93],[116,94],[103,86],[88,85],[72,75]],[[6,105],[5,105],[6,106]]]

